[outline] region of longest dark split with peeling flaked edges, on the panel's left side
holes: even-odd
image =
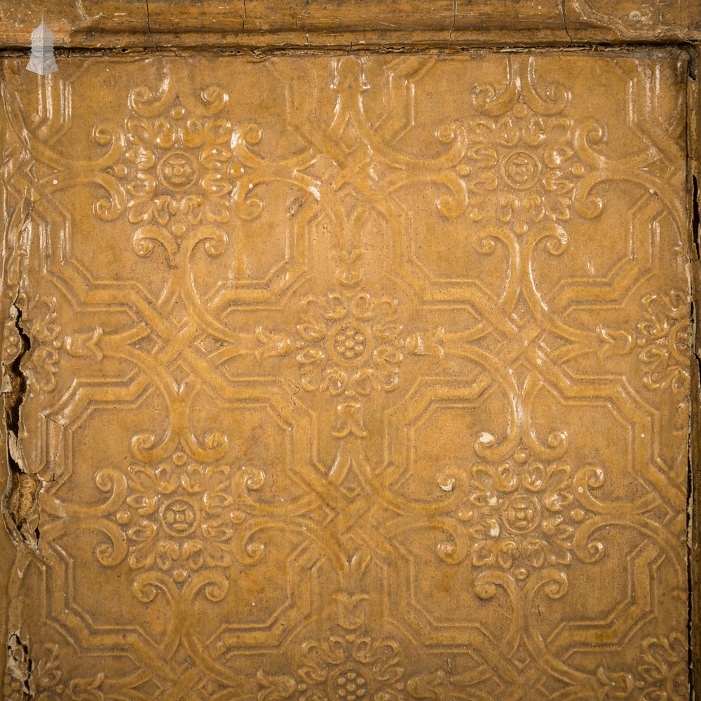
[[[27,393],[27,378],[22,372],[22,358],[31,341],[22,328],[22,310],[18,306],[20,292],[10,307],[9,325],[16,334],[18,352],[3,365],[4,422],[7,435],[8,482],[2,498],[2,515],[15,545],[24,543],[39,553],[39,491],[41,479],[27,471],[19,445],[20,410]]]

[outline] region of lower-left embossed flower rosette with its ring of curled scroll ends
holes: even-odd
[[[97,511],[83,510],[100,517],[109,538],[95,555],[105,566],[128,562],[140,601],[158,590],[173,596],[204,590],[219,601],[233,563],[256,564],[264,555],[253,536],[268,522],[254,518],[248,495],[265,479],[257,468],[221,464],[217,454],[193,460],[180,445],[165,461],[132,463],[126,475],[101,470],[96,483],[109,500]]]

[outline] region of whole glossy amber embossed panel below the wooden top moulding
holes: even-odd
[[[25,62],[6,698],[688,697],[686,55]]]

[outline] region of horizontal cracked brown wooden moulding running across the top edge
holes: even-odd
[[[36,0],[0,0],[0,46],[29,46]],[[64,48],[543,46],[701,40],[701,0],[55,0]]]

